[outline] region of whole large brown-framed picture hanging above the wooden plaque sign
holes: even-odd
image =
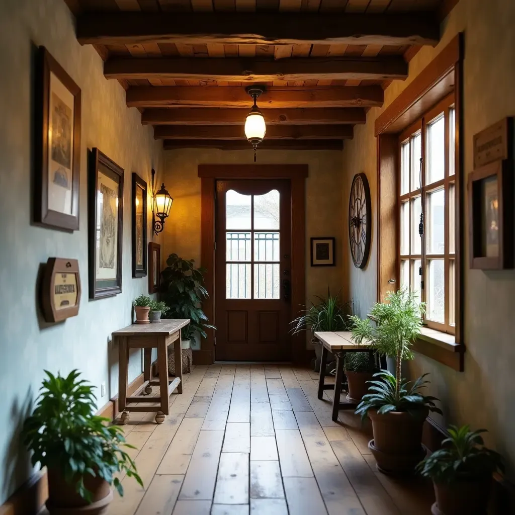
[[[33,220],[79,228],[80,88],[41,46],[36,85],[36,171]]]

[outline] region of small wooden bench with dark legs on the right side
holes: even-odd
[[[320,379],[318,380],[318,398],[323,399],[324,390],[334,389],[333,421],[338,420],[340,409],[356,409],[358,403],[340,402],[342,382],[344,380],[344,357],[347,352],[374,352],[370,345],[356,345],[351,339],[350,331],[343,332],[315,332],[315,337],[322,344],[322,358],[320,360]],[[332,352],[336,357],[336,377],[334,384],[325,384],[325,365],[327,354]]]

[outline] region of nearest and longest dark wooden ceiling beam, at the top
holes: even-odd
[[[77,18],[81,44],[432,45],[436,13],[87,12]]]

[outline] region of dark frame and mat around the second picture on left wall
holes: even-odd
[[[123,256],[123,203],[124,203],[124,170],[109,159],[98,148],[93,148],[89,155],[88,166],[88,250],[89,250],[89,293],[90,299],[101,299],[122,293],[122,256]],[[114,279],[98,278],[97,263],[97,201],[98,201],[98,172],[117,182],[117,213],[116,220],[116,249],[114,249]],[[112,220],[111,220],[112,221]],[[99,229],[101,233],[101,228]],[[99,236],[100,238],[101,236]],[[100,252],[100,250],[99,250]]]

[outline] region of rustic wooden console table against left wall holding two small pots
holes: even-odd
[[[168,346],[174,344],[175,362],[182,363],[181,329],[190,323],[188,319],[162,320],[159,324],[132,324],[113,333],[113,343],[118,344],[118,406],[122,411],[122,423],[129,421],[130,411],[157,411],[156,422],[162,424],[169,414],[169,396],[177,388],[182,393],[182,367],[176,367],[176,377],[168,377]],[[129,349],[144,349],[143,379],[140,389],[147,396],[127,397],[127,373],[129,369]],[[152,349],[158,350],[159,380],[153,380],[151,374]],[[159,386],[160,398],[148,397],[152,386]],[[153,405],[136,406],[135,403]]]

